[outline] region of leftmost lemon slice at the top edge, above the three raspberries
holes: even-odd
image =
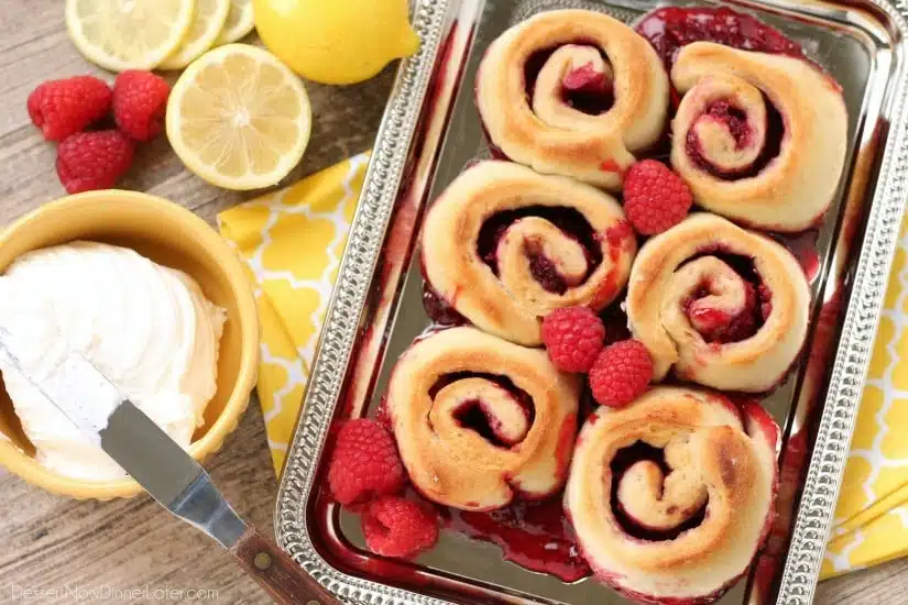
[[[195,0],[66,0],[66,29],[79,52],[106,69],[152,69],[179,46],[195,4]]]

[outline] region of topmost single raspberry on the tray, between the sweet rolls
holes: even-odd
[[[655,160],[637,162],[624,178],[624,211],[637,232],[661,233],[687,216],[693,196],[680,176]]]

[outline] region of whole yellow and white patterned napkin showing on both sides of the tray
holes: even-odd
[[[218,217],[254,277],[259,398],[280,473],[362,187],[362,154]],[[908,554],[908,219],[889,282],[823,578]]]

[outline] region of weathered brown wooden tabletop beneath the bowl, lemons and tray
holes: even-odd
[[[0,0],[0,223],[64,195],[54,172],[54,146],[32,127],[25,99],[40,82],[86,73],[102,75],[73,47],[61,0]],[[313,136],[288,180],[371,146],[393,79],[393,67],[359,86],[308,84]],[[177,201],[214,223],[244,199],[185,170],[164,136],[141,148],[121,184]],[[272,527],[277,484],[258,405],[208,463],[239,514]],[[216,590],[219,603],[266,603],[259,587],[207,538],[149,497],[76,502],[26,485],[0,469],[0,603],[23,603],[24,590],[58,590],[44,603],[76,603],[66,587],[88,591]],[[152,594],[151,592],[149,594]],[[122,602],[96,598],[94,602]],[[33,601],[37,603],[37,601]],[[140,600],[141,602],[141,600]],[[853,573],[820,586],[817,603],[908,604],[908,562]]]

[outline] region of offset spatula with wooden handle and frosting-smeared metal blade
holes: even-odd
[[[30,376],[11,351],[14,342],[10,332],[0,328],[0,354],[6,354],[22,376],[83,432],[99,439],[101,449],[162,506],[226,548],[274,601],[304,605],[340,603],[274,542],[245,524],[208,473],[87,359],[69,351],[42,376]],[[99,398],[112,397],[116,403],[107,427],[73,414],[81,406],[66,405],[76,391],[85,393],[86,385],[92,385]]]

